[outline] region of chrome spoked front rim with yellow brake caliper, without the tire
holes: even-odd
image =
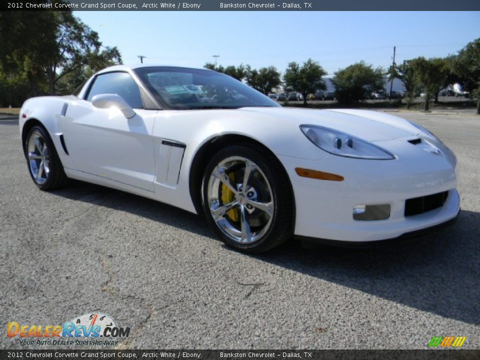
[[[230,156],[214,166],[206,197],[214,223],[236,243],[261,239],[272,224],[270,184],[260,167],[246,157]]]

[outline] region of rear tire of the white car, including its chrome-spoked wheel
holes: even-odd
[[[35,139],[38,139],[42,149],[38,148]],[[45,144],[46,147],[44,146]],[[58,157],[55,145],[48,132],[42,126],[33,126],[28,131],[23,144],[23,151],[28,172],[38,188],[41,190],[53,190],[66,185],[68,177],[63,171],[63,165]],[[43,165],[41,164],[42,162]],[[40,172],[39,175],[38,172]]]

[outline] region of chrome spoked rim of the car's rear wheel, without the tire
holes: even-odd
[[[36,183],[41,185],[50,173],[50,154],[45,139],[38,131],[30,134],[26,150],[31,175]]]

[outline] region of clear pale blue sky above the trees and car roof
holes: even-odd
[[[455,53],[480,37],[478,11],[75,11],[124,63],[201,67],[274,65],[308,57],[331,75],[364,60],[374,66]]]

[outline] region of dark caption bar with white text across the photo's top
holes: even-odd
[[[480,10],[479,0],[18,0],[1,10],[74,11],[324,11],[324,10]]]

